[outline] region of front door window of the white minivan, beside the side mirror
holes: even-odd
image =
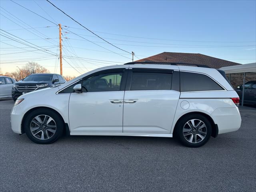
[[[119,91],[122,72],[92,76],[82,82],[82,92]]]

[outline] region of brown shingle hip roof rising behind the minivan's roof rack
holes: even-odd
[[[148,58],[137,60],[138,62],[180,62],[188,64],[203,64],[211,68],[221,68],[226,66],[239,65],[223,59],[199,54],[199,53],[175,53],[175,52],[163,52]],[[136,61],[136,62],[137,62]]]

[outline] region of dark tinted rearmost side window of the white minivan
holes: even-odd
[[[223,90],[214,80],[204,74],[180,72],[180,91]]]

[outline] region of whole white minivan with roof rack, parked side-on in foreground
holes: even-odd
[[[15,133],[49,144],[70,135],[176,136],[189,147],[240,128],[239,98],[212,68],[132,62],[20,96]]]

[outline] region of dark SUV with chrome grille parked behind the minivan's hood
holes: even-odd
[[[14,101],[22,94],[47,88],[56,84],[63,84],[66,80],[59,74],[35,73],[23,80],[14,83],[12,87],[12,98]]]

